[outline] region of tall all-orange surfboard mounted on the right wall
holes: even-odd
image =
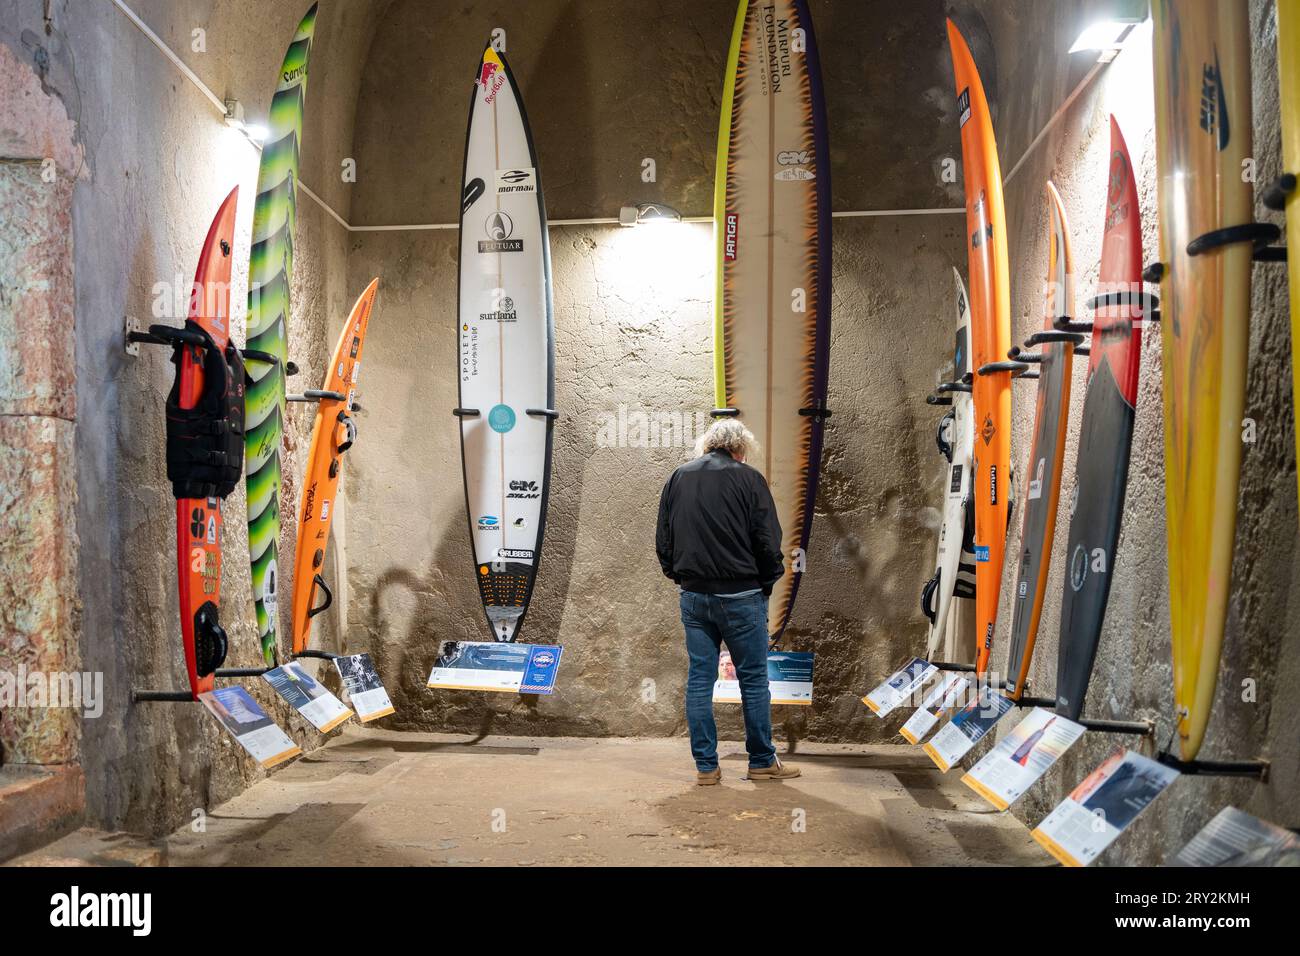
[[[988,669],[997,622],[1006,553],[1008,494],[1011,490],[1011,299],[1008,287],[1006,216],[1002,172],[993,122],[970,48],[953,21],[948,43],[957,78],[957,113],[962,130],[966,181],[966,245],[970,261],[971,368],[975,373],[975,670]]]

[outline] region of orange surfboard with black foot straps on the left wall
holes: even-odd
[[[307,650],[312,632],[312,618],[329,607],[330,591],[321,578],[325,563],[325,545],[334,516],[342,457],[352,446],[356,428],[348,412],[354,411],[356,376],[361,368],[361,346],[370,323],[370,310],[380,280],[361,293],[352,306],[343,334],[339,336],[321,386],[316,424],[312,427],[312,445],[307,455],[307,476],[303,497],[298,502],[298,551],[294,558],[294,654]],[[316,591],[325,592],[325,604],[316,605]]]

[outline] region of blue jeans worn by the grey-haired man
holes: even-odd
[[[767,685],[767,597],[718,597],[681,592],[681,624],[686,631],[686,728],[690,753],[701,773],[718,769],[718,724],[714,682],[722,645],[731,652],[740,679],[745,713],[745,749],[751,767],[776,761],[772,747],[772,692]]]

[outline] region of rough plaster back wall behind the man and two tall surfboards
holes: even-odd
[[[456,220],[468,83],[494,27],[506,30],[552,219],[612,216],[641,199],[711,212],[732,4],[473,3],[455,18],[426,10],[394,0],[376,33],[358,114],[356,222]],[[942,13],[940,3],[915,4],[900,22],[878,4],[814,4],[835,208],[961,204],[961,185],[939,174],[958,148]],[[863,66],[858,38],[876,68]],[[644,157],[656,163],[655,182],[640,178]],[[790,630],[794,646],[818,653],[818,698],[777,714],[793,737],[887,739],[892,728],[859,697],[923,640],[915,607],[942,483],[940,411],[924,395],[950,364],[962,230],[959,215],[836,221],[835,418]],[[439,640],[486,637],[450,415],[454,230],[352,237],[350,286],[377,274],[381,289],[360,382],[369,411],[344,472],[346,646],[376,656],[400,727],[681,734],[685,653],[653,533],[659,489],[686,449],[638,446],[636,434],[638,415],[705,424],[697,416],[712,405],[710,226],[555,226],[551,248],[563,418],[523,639],[564,644],[559,692],[425,688]],[[612,423],[618,433],[620,421],[630,441],[608,447],[602,429]],[[738,735],[737,711],[720,714]]]

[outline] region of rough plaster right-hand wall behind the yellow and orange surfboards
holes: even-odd
[[[1063,51],[1086,16],[1087,5],[1067,5],[1053,20],[1044,5],[1000,8],[989,16],[998,53],[1001,116],[997,127],[1004,170],[1009,170],[1078,82],[1078,65]],[[1252,3],[1254,157],[1258,182],[1279,172],[1277,95],[1277,27],[1271,3]],[[1024,46],[1017,36],[1032,34],[1044,42]],[[1092,62],[1091,57],[1082,57]],[[1067,72],[1070,75],[1067,77]],[[1067,82],[1069,81],[1069,82]],[[1113,64],[1065,112],[1031,153],[1006,190],[1010,238],[1013,339],[1023,341],[1041,326],[1046,274],[1046,206],[1044,181],[1061,191],[1070,220],[1076,299],[1092,295],[1097,281],[1104,198],[1109,164],[1109,114],[1119,120],[1138,178],[1145,261],[1158,259],[1156,144],[1153,131],[1150,33],[1136,34]],[[1261,186],[1262,187],[1262,186]],[[1262,207],[1261,219],[1277,217]],[[1266,784],[1223,778],[1187,777],[1175,783],[1113,847],[1105,862],[1158,864],[1182,847],[1223,805],[1232,804],[1286,826],[1300,819],[1296,783],[1295,688],[1300,644],[1291,593],[1296,587],[1295,437],[1290,389],[1290,329],[1284,269],[1254,267],[1251,316],[1247,415],[1257,423],[1257,441],[1245,445],[1238,511],[1232,600],[1204,760],[1266,757],[1273,773]],[[1080,307],[1082,311],[1082,307]],[[1123,514],[1123,531],[1114,557],[1114,580],[1105,627],[1088,691],[1086,717],[1152,719],[1154,740],[1087,735],[1045,783],[1035,787],[1015,812],[1036,823],[1106,753],[1118,744],[1152,756],[1165,749],[1173,734],[1173,669],[1169,637],[1169,587],[1165,555],[1164,411],[1161,398],[1160,330],[1144,334],[1132,463]],[[1069,501],[1078,428],[1083,410],[1086,360],[1075,365],[1066,449],[1065,484],[1052,562],[1048,602],[1043,614],[1031,693],[1052,696],[1065,578]],[[1026,467],[1034,427],[1035,386],[1014,392],[1017,420],[1013,453]],[[1022,472],[1023,473],[1023,472]],[[1008,554],[1019,546],[1020,520],[1013,523]],[[1008,564],[998,611],[1000,648],[994,663],[1005,667],[1014,567]],[[1256,700],[1244,701],[1247,682]],[[1009,718],[1005,730],[1014,726]]]

